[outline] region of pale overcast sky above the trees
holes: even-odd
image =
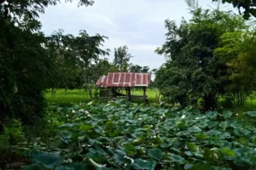
[[[216,8],[212,0],[199,0],[203,8]],[[232,9],[232,6],[224,6]],[[46,35],[58,29],[78,35],[79,30],[90,36],[99,33],[109,39],[104,48],[110,48],[109,60],[113,60],[113,48],[127,45],[134,56],[131,62],[158,68],[165,58],[154,53],[165,42],[166,19],[180,23],[182,17],[190,18],[184,0],[95,0],[91,7],[79,7],[77,2],[61,3],[46,8],[40,20]]]

